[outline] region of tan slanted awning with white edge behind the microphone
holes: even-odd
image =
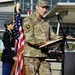
[[[50,22],[57,23],[56,12],[59,12],[65,24],[75,24],[75,3],[57,3],[44,17]]]

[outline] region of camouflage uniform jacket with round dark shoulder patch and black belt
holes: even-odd
[[[26,42],[24,56],[46,57],[46,51],[42,52],[39,46],[59,38],[53,32],[49,22],[39,18],[36,13],[23,20],[23,30]]]

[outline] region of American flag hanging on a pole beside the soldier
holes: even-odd
[[[22,21],[20,14],[17,12],[16,7],[14,8],[14,30],[13,34],[15,37],[15,47],[17,54],[19,53],[18,62],[15,68],[15,75],[23,75],[24,63],[23,63],[23,52],[24,52],[24,35],[22,30]]]

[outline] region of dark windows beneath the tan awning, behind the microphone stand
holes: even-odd
[[[52,28],[54,30],[54,32],[56,33],[57,31],[57,25],[52,25]],[[75,25],[63,25],[63,29],[65,32],[65,35],[71,35],[73,37],[75,37]],[[62,31],[62,27],[60,26],[59,29],[59,35],[63,35],[63,31]]]

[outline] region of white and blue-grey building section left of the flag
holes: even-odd
[[[2,35],[4,33],[4,22],[10,19],[14,11],[13,0],[0,0],[0,50],[3,49]]]

